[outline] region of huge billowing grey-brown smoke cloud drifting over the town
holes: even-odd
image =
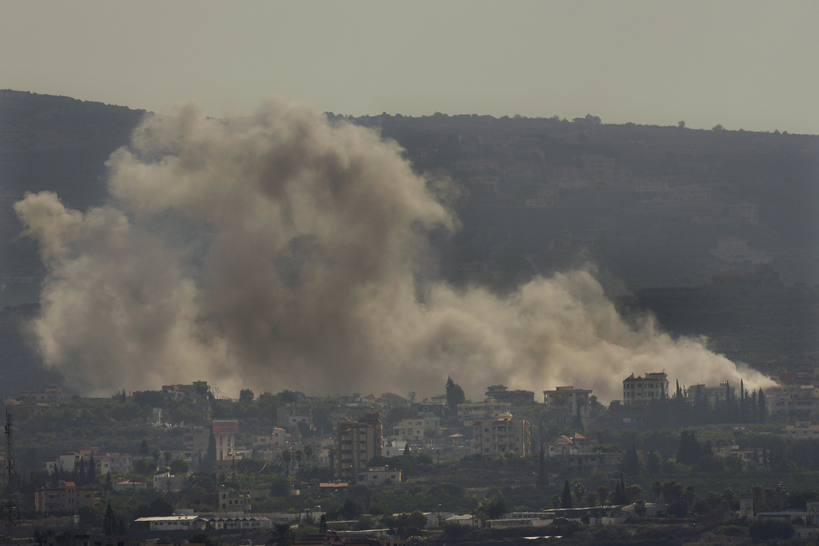
[[[682,384],[764,377],[618,316],[588,271],[509,296],[427,279],[427,233],[457,219],[369,129],[271,98],[255,115],[150,116],[108,161],[116,206],[16,204],[49,275],[34,323],[75,389],[206,379],[229,392],[593,388],[631,372]],[[201,234],[190,241],[179,233]]]

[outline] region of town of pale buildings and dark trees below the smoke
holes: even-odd
[[[695,521],[813,538],[819,381],[801,372],[751,392],[632,373],[608,407],[582,386],[492,385],[471,401],[452,378],[423,399],[229,399],[206,381],[88,399],[51,386],[6,399],[15,446],[2,464],[18,474],[18,532],[52,530],[49,544],[247,538],[285,524],[296,544]]]

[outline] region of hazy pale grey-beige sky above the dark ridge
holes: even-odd
[[[819,2],[0,0],[0,88],[819,133]]]

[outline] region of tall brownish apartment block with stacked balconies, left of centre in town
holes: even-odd
[[[360,421],[343,417],[337,424],[338,475],[355,480],[367,470],[369,459],[382,454],[380,413],[368,413]]]

